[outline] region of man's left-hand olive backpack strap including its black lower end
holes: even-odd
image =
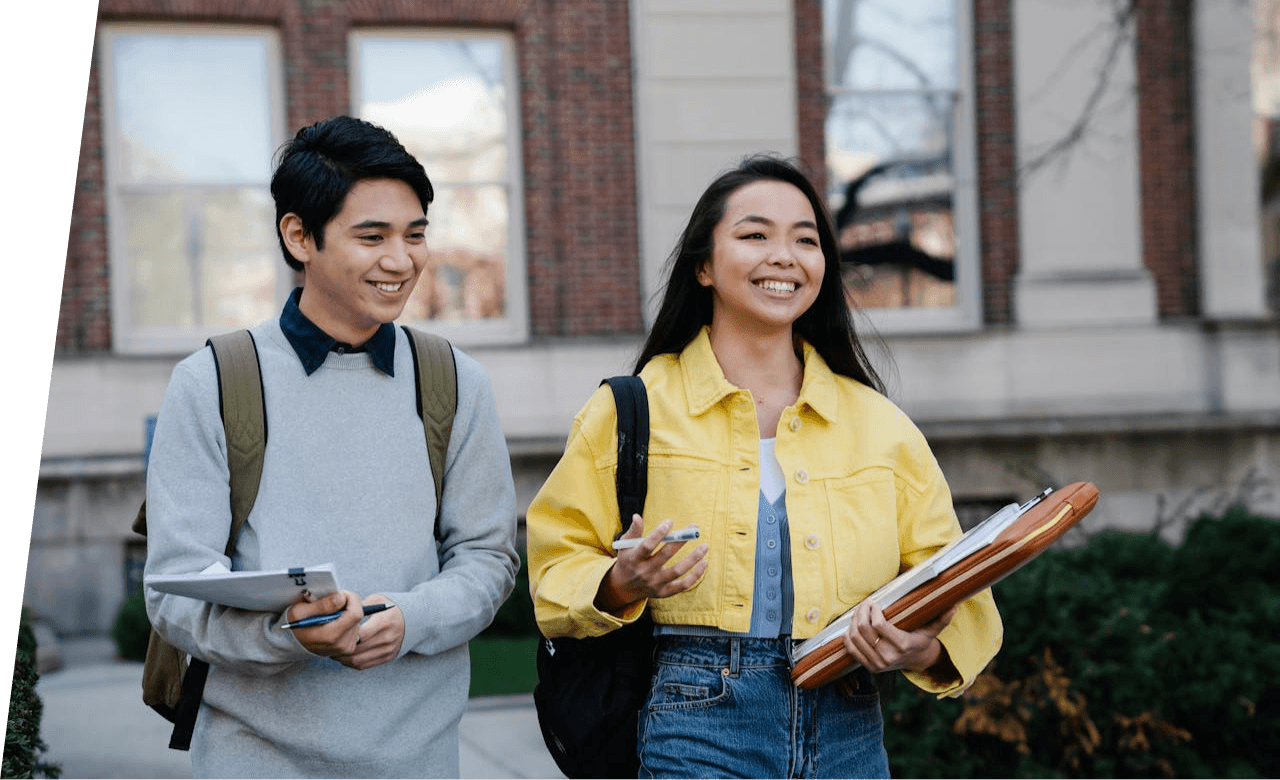
[[[236,552],[244,520],[248,519],[257,488],[262,479],[262,456],[266,452],[266,406],[262,392],[262,371],[257,362],[257,347],[248,330],[223,333],[209,339],[218,369],[218,400],[227,433],[227,467],[230,471],[232,528],[227,537],[225,553]],[[169,747],[175,751],[191,749],[191,735],[196,729],[196,715],[205,694],[209,663],[191,658],[182,678],[182,697],[173,719]]]

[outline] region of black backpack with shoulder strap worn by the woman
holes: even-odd
[[[649,398],[639,377],[605,382],[618,410],[621,537],[631,515],[643,514],[649,487]],[[538,644],[538,725],[566,777],[639,774],[636,731],[653,679],[653,652],[648,615],[603,637],[544,637]]]

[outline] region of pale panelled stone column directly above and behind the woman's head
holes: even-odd
[[[794,156],[791,0],[634,0],[636,149],[645,325],[694,204],[742,156]]]

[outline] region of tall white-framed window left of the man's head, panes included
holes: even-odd
[[[186,352],[276,314],[274,31],[105,26],[99,56],[115,348]]]

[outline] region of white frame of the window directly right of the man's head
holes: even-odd
[[[503,49],[503,81],[507,88],[507,177],[492,181],[445,181],[433,175],[436,192],[444,186],[502,186],[508,192],[507,257],[504,277],[504,314],[502,318],[484,320],[411,320],[404,324],[419,327],[458,346],[516,346],[529,341],[529,255],[525,229],[525,178],[524,178],[524,119],[520,111],[521,81],[516,59],[516,36],[507,29],[477,27],[358,27],[347,35],[348,88],[351,113],[360,115],[361,95],[360,76],[362,63],[360,44],[367,40],[495,40]],[[396,128],[388,128],[393,133]],[[428,214],[430,218],[430,213]],[[431,248],[430,228],[428,228],[428,250]]]

